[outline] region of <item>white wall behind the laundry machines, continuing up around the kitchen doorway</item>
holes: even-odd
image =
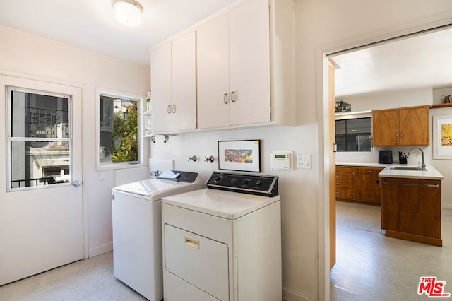
[[[218,168],[216,162],[189,163],[189,155],[216,156],[219,140],[262,139],[262,172],[280,175],[283,296],[286,300],[323,300],[328,299],[329,294],[329,276],[324,275],[328,271],[324,268],[324,249],[328,248],[328,242],[324,242],[323,237],[328,187],[325,187],[323,171],[326,165],[323,163],[323,95],[317,85],[322,78],[318,72],[318,51],[363,45],[390,33],[400,35],[401,31],[420,23],[451,16],[452,2],[301,0],[297,1],[296,9],[298,126],[181,134],[170,137],[168,143],[159,142],[157,138],[151,153],[153,158],[174,158],[177,169],[194,170],[208,177]],[[448,14],[441,14],[447,10]],[[440,15],[436,16],[437,13]],[[427,16],[432,17],[425,20]],[[313,168],[270,170],[270,151],[285,150],[311,154]]]

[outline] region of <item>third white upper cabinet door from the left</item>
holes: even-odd
[[[196,30],[198,128],[229,126],[227,13]]]

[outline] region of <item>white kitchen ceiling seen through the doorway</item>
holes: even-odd
[[[333,57],[336,98],[383,90],[452,87],[452,28]]]

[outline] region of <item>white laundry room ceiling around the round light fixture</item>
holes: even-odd
[[[138,27],[114,20],[112,0],[0,0],[0,25],[149,66],[149,49],[237,0],[138,0]]]

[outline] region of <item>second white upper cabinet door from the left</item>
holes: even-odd
[[[196,38],[190,31],[171,44],[172,130],[196,129]]]

